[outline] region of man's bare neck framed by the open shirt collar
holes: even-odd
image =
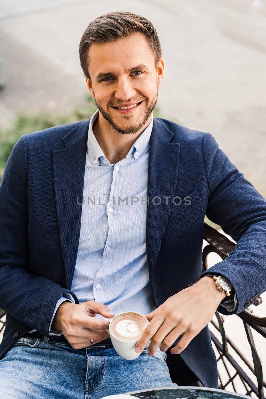
[[[99,118],[93,124],[93,133],[106,159],[111,164],[116,164],[123,159],[151,120],[152,114],[138,132],[122,134],[115,130],[99,112]]]

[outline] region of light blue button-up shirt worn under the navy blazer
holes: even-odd
[[[71,291],[79,303],[95,300],[106,304],[114,314],[148,314],[156,308],[146,255],[149,142],[154,117],[128,154],[110,164],[93,133],[98,116],[99,110],[89,124],[83,198],[78,199],[83,203],[81,229]],[[53,317],[65,300],[75,303],[71,294],[61,296]],[[61,331],[51,329],[53,317],[49,335],[59,336]]]

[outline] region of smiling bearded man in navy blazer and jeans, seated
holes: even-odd
[[[153,117],[164,61],[149,21],[100,16],[80,59],[97,112],[22,136],[0,187],[1,397],[217,387],[207,324],[266,289],[266,200],[211,134]],[[237,245],[201,273],[205,215]],[[150,321],[134,361],[102,317],[130,310]]]

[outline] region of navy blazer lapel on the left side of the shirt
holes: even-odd
[[[66,288],[71,289],[81,226],[81,210],[89,120],[62,138],[65,148],[53,151],[55,202]]]

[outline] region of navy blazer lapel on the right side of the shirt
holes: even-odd
[[[147,206],[146,221],[146,252],[150,275],[160,251],[177,183],[180,144],[170,143],[173,136],[173,132],[163,122],[154,118],[150,137],[149,205]],[[164,198],[166,196],[170,197],[168,205]],[[158,203],[160,205],[156,205]]]

